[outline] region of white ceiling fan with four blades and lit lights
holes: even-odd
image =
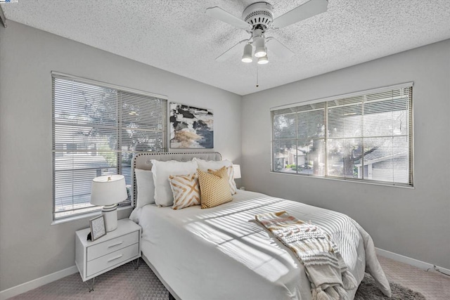
[[[328,0],[309,0],[308,2],[297,6],[292,11],[280,15],[274,19],[273,8],[267,2],[255,2],[250,4],[243,11],[242,18],[238,18],[231,13],[224,11],[219,6],[207,8],[205,13],[212,18],[226,22],[234,27],[238,27],[250,33],[249,39],[239,41],[229,50],[216,58],[217,61],[224,61],[233,54],[233,49],[245,43],[242,56],[243,63],[252,63],[253,48],[255,48],[255,58],[257,63],[269,63],[267,48],[280,58],[290,58],[294,55],[293,51],[274,37],[266,37],[266,32],[272,29],[283,28],[292,25],[301,20],[318,15],[326,11]]]

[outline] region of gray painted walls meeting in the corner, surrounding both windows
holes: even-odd
[[[244,96],[241,107],[236,94],[8,22],[0,27],[0,290],[73,266],[75,230],[88,226],[50,225],[52,70],[211,108],[214,150],[241,162],[249,190],[342,211],[377,247],[450,268],[449,53],[450,41],[432,44]],[[405,81],[414,81],[414,189],[270,173],[270,107]]]

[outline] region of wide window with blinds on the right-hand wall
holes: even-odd
[[[271,109],[272,171],[413,185],[412,83]]]

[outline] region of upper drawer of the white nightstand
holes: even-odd
[[[87,248],[87,261],[92,261],[100,256],[115,252],[118,249],[123,249],[137,242],[139,242],[139,231],[115,237],[100,244],[94,244],[94,246]]]

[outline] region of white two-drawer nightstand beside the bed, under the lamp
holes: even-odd
[[[86,228],[75,233],[75,264],[83,282],[93,279],[92,287],[88,285],[92,292],[96,276],[141,257],[141,226],[129,219],[119,220],[116,230],[94,242],[86,240],[90,232]]]

